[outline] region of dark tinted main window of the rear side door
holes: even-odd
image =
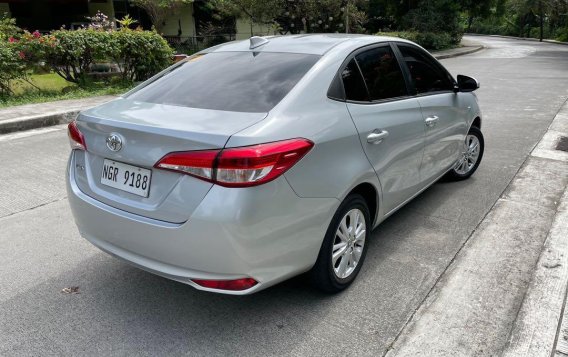
[[[355,56],[370,99],[383,100],[408,94],[404,75],[390,46],[381,46]]]

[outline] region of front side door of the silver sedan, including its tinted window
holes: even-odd
[[[454,91],[454,79],[437,60],[411,44],[397,47],[422,108],[426,137],[420,177],[427,185],[456,163],[467,133],[468,108]]]

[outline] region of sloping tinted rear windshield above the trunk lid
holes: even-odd
[[[266,113],[320,56],[214,52],[196,56],[128,98],[191,108]]]

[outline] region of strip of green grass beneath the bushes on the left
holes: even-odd
[[[79,88],[55,73],[33,74],[30,83],[18,81],[12,86],[14,94],[0,97],[0,108],[14,105],[43,103],[62,99],[78,99],[98,95],[119,95],[131,85],[123,83],[95,82],[87,88]]]

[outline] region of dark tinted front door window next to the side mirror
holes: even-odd
[[[418,94],[451,91],[454,80],[436,61],[418,47],[398,44]]]

